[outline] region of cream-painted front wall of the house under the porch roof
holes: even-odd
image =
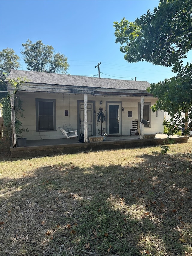
[[[83,94],[60,94],[60,93],[32,93],[32,92],[19,92],[19,96],[24,109],[24,117],[19,118],[22,122],[23,128],[28,128],[29,132],[23,132],[23,137],[28,140],[40,140],[40,139],[61,139],[64,138],[61,131],[57,128],[70,128],[70,130],[77,130],[79,120],[77,120],[78,106],[77,101],[83,101]],[[35,99],[55,99],[56,101],[56,128],[57,131],[36,131],[36,107]],[[95,112],[99,111],[102,107],[106,110],[106,102],[121,102],[121,135],[130,135],[130,128],[132,120],[138,119],[138,104],[140,103],[140,97],[126,97],[126,96],[100,96],[100,95],[88,95],[88,101],[95,101]],[[100,105],[102,101],[102,105]],[[150,102],[151,105],[155,104],[156,99],[152,97],[145,97],[145,102]],[[68,116],[64,115],[64,110],[68,110]],[[132,111],[132,117],[128,117],[128,111]],[[97,114],[94,114],[95,118],[95,134],[98,134],[98,130],[101,127],[100,123],[97,123]],[[106,113],[107,114],[107,113]],[[150,127],[144,128],[144,134],[155,134],[160,131],[163,133],[163,118],[164,112],[151,111],[151,124]],[[102,124],[102,127],[106,128],[107,122]],[[79,136],[79,134],[78,134]]]

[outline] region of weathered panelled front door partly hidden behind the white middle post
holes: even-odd
[[[80,133],[84,133],[84,102],[79,103]],[[87,129],[88,136],[93,136],[93,103],[87,103]]]

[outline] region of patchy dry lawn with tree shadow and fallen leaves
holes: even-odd
[[[0,158],[0,255],[192,255],[192,140]]]

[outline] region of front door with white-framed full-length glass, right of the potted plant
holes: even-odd
[[[121,104],[108,103],[107,104],[107,134],[120,135],[121,134]]]

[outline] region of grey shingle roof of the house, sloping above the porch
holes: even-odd
[[[26,77],[30,83],[51,85],[86,86],[108,89],[146,90],[150,84],[146,81],[118,80],[98,77],[82,77],[36,71],[11,70],[8,78]]]

